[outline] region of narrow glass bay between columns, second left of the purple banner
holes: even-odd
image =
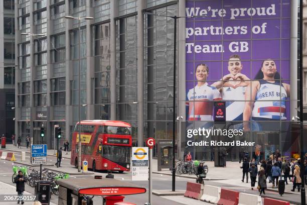
[[[117,120],[130,123],[132,143],[136,142],[137,119],[137,16],[117,20]]]

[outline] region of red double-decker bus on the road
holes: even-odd
[[[121,121],[81,121],[81,161],[95,170],[130,171],[131,126]],[[70,164],[78,167],[79,122],[72,134]]]

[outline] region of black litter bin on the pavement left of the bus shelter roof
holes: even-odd
[[[35,187],[36,199],[42,204],[50,203],[52,181],[37,181]]]

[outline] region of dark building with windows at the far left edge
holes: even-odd
[[[15,133],[15,3],[0,3],[0,134],[11,141]]]

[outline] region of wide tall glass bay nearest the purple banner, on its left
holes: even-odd
[[[177,5],[147,12],[154,15],[144,15],[146,132],[147,137],[156,140],[171,140],[174,99],[174,19],[157,15],[175,16]],[[154,156],[156,154],[154,153]]]

